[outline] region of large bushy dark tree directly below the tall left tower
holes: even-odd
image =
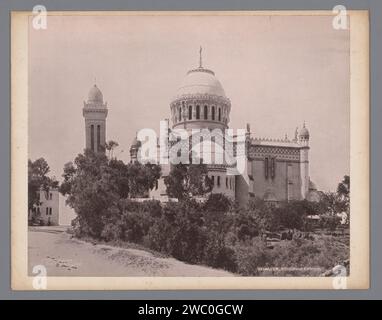
[[[77,234],[100,237],[110,219],[121,214],[120,200],[153,187],[160,177],[157,165],[125,164],[104,153],[85,150],[67,163],[60,192],[77,213]]]

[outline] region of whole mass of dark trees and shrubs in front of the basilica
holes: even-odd
[[[126,165],[88,152],[79,155],[74,164],[65,166],[61,185],[78,213],[74,234],[127,241],[182,261],[246,276],[263,275],[263,267],[318,267],[317,273],[348,258],[348,243],[327,236],[305,237],[307,233],[301,232],[310,228],[307,216],[316,214],[322,218],[321,227],[334,230],[338,219],[327,214],[327,208],[338,197],[323,197],[319,203],[303,200],[277,205],[254,199],[241,208],[223,194],[210,194],[201,203],[192,197],[205,194],[205,185],[198,184],[206,171],[177,165],[166,185],[180,201],[161,204],[129,198],[153,187],[159,175],[154,165]],[[281,237],[270,246],[263,237],[269,232],[284,232],[290,237]]]

